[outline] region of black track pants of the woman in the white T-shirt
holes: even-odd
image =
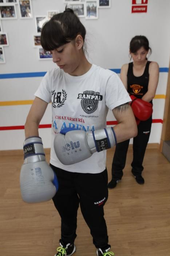
[[[108,246],[103,206],[108,198],[107,169],[102,173],[72,173],[50,164],[58,177],[59,189],[53,202],[61,217],[61,238],[64,244],[76,238],[77,211],[80,208],[96,248]],[[82,229],[83,232],[83,229]]]

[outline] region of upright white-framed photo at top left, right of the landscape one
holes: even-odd
[[[32,18],[31,0],[19,0],[20,18],[30,19]]]

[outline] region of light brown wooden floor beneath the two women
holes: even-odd
[[[109,179],[113,153],[107,152]],[[46,158],[49,162],[48,154]],[[131,175],[131,159],[129,150],[123,179],[109,190],[105,205],[111,249],[115,256],[170,256],[170,163],[156,148],[147,149],[145,184],[139,185]],[[22,154],[0,155],[0,256],[54,256],[60,238],[58,212],[52,201],[22,201],[22,163]],[[80,211],[77,235],[74,255],[96,255]]]

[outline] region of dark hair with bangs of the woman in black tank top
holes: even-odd
[[[141,47],[143,47],[146,51],[150,50],[150,54],[152,53],[152,50],[151,50],[151,48],[149,46],[149,41],[145,37],[145,35],[136,35],[130,41],[130,52],[131,53],[135,53]],[[149,56],[150,56],[150,54],[149,54]]]

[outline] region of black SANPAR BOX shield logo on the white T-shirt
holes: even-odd
[[[102,101],[103,96],[95,91],[83,91],[78,94],[78,99],[81,99],[81,106],[84,112],[91,114],[98,108],[98,102]]]

